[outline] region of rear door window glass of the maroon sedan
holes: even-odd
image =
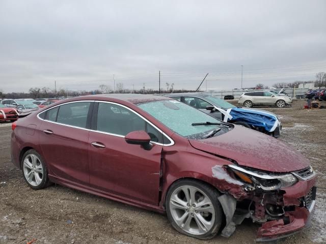
[[[69,126],[86,128],[91,102],[68,103],[59,106],[57,122]]]

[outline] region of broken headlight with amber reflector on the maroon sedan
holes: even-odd
[[[234,174],[247,184],[256,186],[265,191],[278,190],[293,186],[297,178],[290,173],[268,174],[265,172],[244,169],[235,165],[229,165]]]

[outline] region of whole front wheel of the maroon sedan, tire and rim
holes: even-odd
[[[219,192],[200,181],[183,179],[175,182],[166,197],[167,215],[181,234],[207,240],[220,230],[223,210]]]

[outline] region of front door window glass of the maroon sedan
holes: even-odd
[[[132,131],[145,131],[145,120],[122,106],[99,103],[96,130],[125,136]]]

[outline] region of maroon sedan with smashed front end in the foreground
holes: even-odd
[[[316,174],[295,149],[170,98],[78,97],[12,127],[12,161],[31,188],[56,182],[166,212],[188,236],[230,236],[251,218],[258,240],[273,240],[314,211]]]

